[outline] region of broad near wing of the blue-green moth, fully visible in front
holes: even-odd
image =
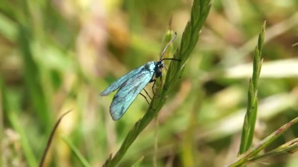
[[[149,83],[153,74],[154,71],[144,70],[128,79],[126,84],[118,90],[110,106],[110,113],[113,120],[119,120],[124,115],[130,104]]]

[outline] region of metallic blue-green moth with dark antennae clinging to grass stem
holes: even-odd
[[[143,97],[145,97],[146,101],[148,102],[146,96],[143,95],[141,91],[148,83],[154,82],[152,86],[152,90],[153,90],[156,80],[158,78],[160,78],[161,80],[162,69],[164,68],[164,63],[163,63],[164,60],[174,60],[174,61],[180,62],[180,60],[174,59],[174,58],[162,59],[165,51],[167,50],[169,45],[174,41],[176,36],[177,34],[175,33],[173,39],[166,45],[166,47],[161,53],[159,61],[148,62],[128,72],[121,78],[117,79],[114,83],[112,83],[100,94],[101,96],[107,96],[111,92],[115,91],[116,89],[119,89],[117,93],[114,95],[113,101],[110,105],[110,114],[114,121],[119,120],[124,115],[128,107],[136,99],[138,94],[141,94]],[[147,93],[147,95],[149,95],[146,90],[145,92]],[[153,94],[154,94],[154,91],[153,91]]]

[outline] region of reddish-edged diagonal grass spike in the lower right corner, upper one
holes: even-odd
[[[259,153],[262,149],[269,146],[273,143],[280,135],[282,135],[286,130],[288,130],[291,126],[298,123],[298,117],[290,121],[289,123],[281,126],[279,129],[275,130],[271,135],[267,136],[264,140],[259,142],[258,145],[251,147],[245,153],[238,156],[238,158],[228,165],[227,167],[239,167],[246,163],[251,157],[255,156]]]

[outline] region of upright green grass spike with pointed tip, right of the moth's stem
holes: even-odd
[[[257,85],[258,85],[258,80],[259,80],[261,66],[262,66],[261,55],[262,55],[263,42],[265,37],[265,27],[266,27],[266,21],[264,22],[261,28],[258,44],[255,47],[255,51],[254,51],[252,78],[249,80],[249,88],[248,88],[248,107],[247,107],[247,113],[245,115],[243,128],[242,128],[239,155],[247,151],[252,144],[254,127],[255,127],[256,118],[257,118],[257,109],[258,109]]]

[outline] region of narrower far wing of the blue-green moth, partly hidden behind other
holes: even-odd
[[[102,91],[100,96],[109,95],[111,92],[113,92],[116,89],[118,89],[119,87],[123,86],[127,80],[129,80],[130,78],[132,78],[135,75],[137,75],[138,73],[140,73],[140,71],[142,71],[143,68],[144,68],[144,65],[142,65],[142,66],[128,72],[127,74],[125,74],[121,78],[117,79],[114,83],[112,83],[109,87],[107,87],[104,91]]]

